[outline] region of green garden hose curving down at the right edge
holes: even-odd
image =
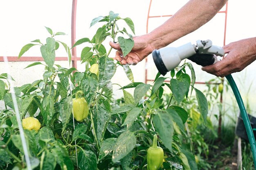
[[[254,134],[252,131],[252,126],[249,121],[247,112],[245,110],[245,105],[243,103],[243,100],[241,98],[241,95],[238,91],[238,88],[236,86],[236,83],[235,83],[233,77],[231,76],[231,74],[229,74],[228,76],[226,76],[226,78],[227,78],[227,81],[229,81],[229,84],[234,92],[236,101],[237,101],[239,109],[240,109],[241,116],[242,116],[244,124],[245,124],[245,129],[246,129],[247,136],[248,136],[248,139],[249,139],[249,142],[251,145],[252,156],[253,156],[254,166],[255,166],[255,170],[256,170],[256,142],[255,142]]]

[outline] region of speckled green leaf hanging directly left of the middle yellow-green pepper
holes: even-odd
[[[68,96],[61,100],[59,104],[59,113],[62,121],[62,131],[64,132],[72,114],[72,96]]]

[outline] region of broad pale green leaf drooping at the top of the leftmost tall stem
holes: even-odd
[[[40,47],[40,51],[45,63],[48,65],[49,68],[52,68],[55,60],[55,50],[49,51],[46,45],[42,45]]]

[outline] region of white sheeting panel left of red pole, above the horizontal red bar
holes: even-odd
[[[72,0],[1,0],[0,56],[18,56],[20,49],[35,39],[45,39],[50,34],[45,27],[54,32],[71,35]],[[71,36],[59,36],[58,40],[71,45]],[[32,47],[25,56],[40,56],[40,49]],[[56,52],[64,56],[65,49]]]

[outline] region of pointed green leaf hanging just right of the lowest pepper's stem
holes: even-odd
[[[168,150],[172,150],[173,141],[173,118],[164,111],[158,111],[153,117],[155,129],[159,133],[160,139]]]

